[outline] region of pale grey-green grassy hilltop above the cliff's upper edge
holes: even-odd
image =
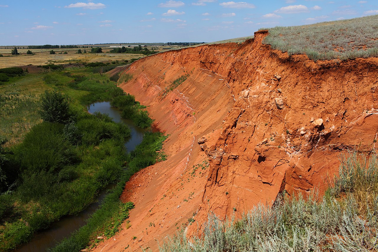
[[[301,26],[276,26],[263,44],[317,60],[378,57],[378,15]]]

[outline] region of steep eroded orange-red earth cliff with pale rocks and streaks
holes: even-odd
[[[378,59],[314,63],[271,50],[266,34],[156,54],[125,71],[133,79],[121,87],[170,134],[168,158],[127,182],[130,223],[95,251],[155,251],[181,227],[195,233],[210,212],[239,217],[283,190],[324,193],[341,153],[375,151]]]

